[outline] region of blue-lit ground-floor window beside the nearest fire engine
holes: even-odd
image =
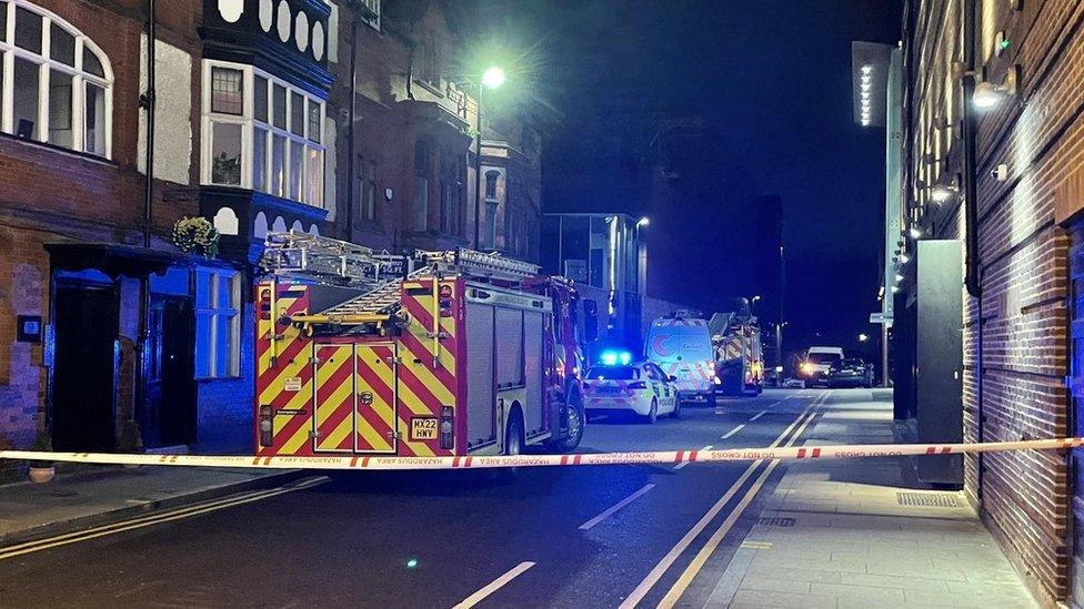
[[[195,271],[195,375],[240,376],[241,276],[224,268]]]

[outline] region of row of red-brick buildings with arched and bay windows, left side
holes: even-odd
[[[268,232],[473,243],[478,104],[439,2],[155,7],[0,0],[0,447],[249,451]],[[502,121],[483,245],[536,258],[536,121]],[[217,252],[181,251],[182,219]]]

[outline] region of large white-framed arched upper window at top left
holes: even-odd
[[[109,158],[113,73],[106,54],[60,17],[0,0],[0,130]]]

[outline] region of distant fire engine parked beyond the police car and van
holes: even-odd
[[[756,317],[715,313],[707,326],[720,389],[729,395],[760,394],[764,385],[764,356]]]

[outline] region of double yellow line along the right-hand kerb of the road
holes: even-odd
[[[799,417],[794,419],[794,422],[791,423],[791,425],[787,426],[787,428],[784,429],[777,438],[775,438],[775,441],[773,441],[769,448],[776,448],[781,445],[783,447],[793,446],[805,432],[809,424],[816,416],[816,409],[824,404],[825,400],[827,400],[831,392],[821,394],[809,406],[806,406],[805,410],[803,410],[802,414],[799,415]],[[784,441],[785,444],[783,444]],[[753,476],[753,474],[763,463],[764,459],[760,459],[750,464],[741,477],[737,478],[737,481],[735,481],[726,490],[726,493],[724,493],[723,496],[715,501],[711,509],[709,509],[707,512],[704,514],[704,516],[695,525],[693,525],[691,529],[689,529],[689,532],[686,532],[685,536],[682,537],[673,548],[671,548],[666,556],[664,556],[663,559],[655,565],[655,568],[648,574],[648,577],[645,577],[643,581],[641,581],[640,585],[636,586],[636,588],[629,595],[629,597],[625,598],[625,600],[621,603],[621,609],[631,609],[648,596],[651,589],[659,582],[660,579],[662,579],[663,575],[665,575],[666,571],[673,567],[674,562],[678,561],[681,555],[689,549],[692,542],[704,531],[704,529],[707,528],[712,520],[714,520],[723,508],[730,504],[730,500],[737,495],[737,491],[742,489],[745,481]],[[670,591],[666,592],[666,596],[663,597],[663,599],[659,602],[659,607],[669,609],[678,603],[681,595],[684,593],[689,588],[689,585],[692,583],[693,579],[696,577],[696,574],[700,572],[700,570],[704,567],[704,564],[707,562],[709,557],[711,557],[712,552],[715,551],[715,548],[719,547],[719,544],[722,542],[723,538],[734,527],[737,519],[741,518],[742,514],[745,511],[745,508],[747,508],[753,501],[753,498],[760,491],[761,487],[764,486],[764,483],[767,481],[769,476],[772,475],[772,471],[776,466],[779,466],[779,459],[773,459],[767,464],[767,467],[764,468],[752,486],[749,487],[742,499],[726,516],[726,519],[723,520],[722,525],[720,525],[717,529],[715,529],[715,532],[712,534],[700,551],[696,552],[696,556],[693,557],[689,566],[685,567],[684,571],[682,571],[681,576],[678,577],[678,581],[674,582],[674,585],[670,588]]]

